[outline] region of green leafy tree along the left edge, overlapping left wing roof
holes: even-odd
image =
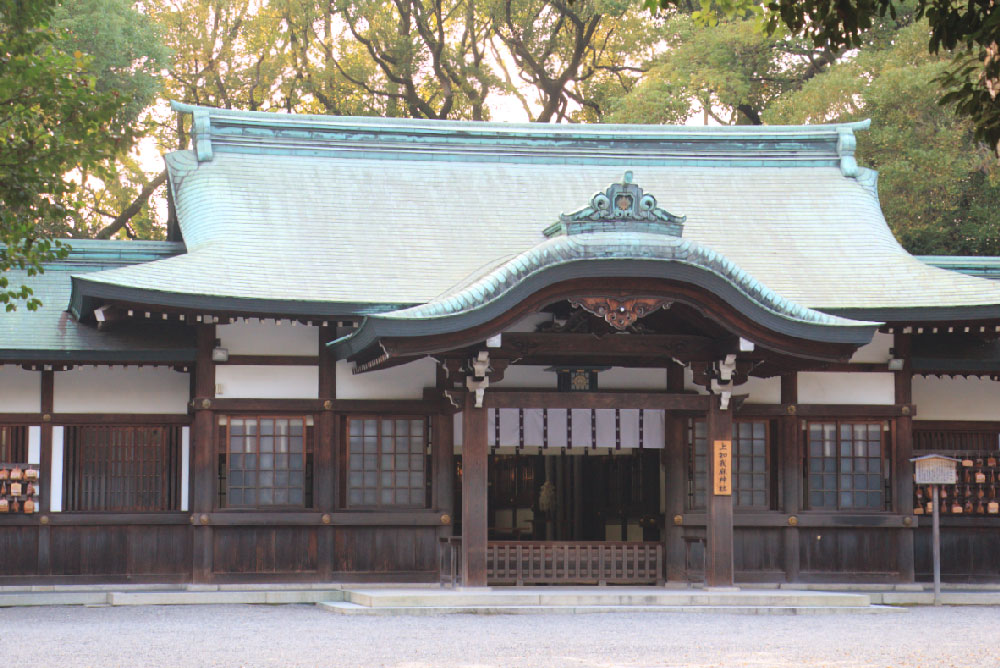
[[[120,95],[98,91],[89,59],[64,48],[65,34],[50,27],[54,10],[54,0],[0,0],[0,303],[8,311],[40,302],[5,272],[34,276],[65,255],[50,240],[78,189],[65,175],[103,174],[132,139],[114,122]]]

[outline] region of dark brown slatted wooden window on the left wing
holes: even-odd
[[[181,427],[66,427],[63,508],[67,511],[178,510]]]

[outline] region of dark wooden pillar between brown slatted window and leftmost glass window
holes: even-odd
[[[215,453],[215,325],[198,325],[198,357],[194,365],[194,420],[191,425],[191,512],[194,537],[192,539],[192,578],[195,582],[212,579],[212,552],[214,542],[212,527],[202,522],[202,516],[215,509],[218,476]]]

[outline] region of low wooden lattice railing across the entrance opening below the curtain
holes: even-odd
[[[491,541],[490,584],[661,584],[663,545],[626,542]]]

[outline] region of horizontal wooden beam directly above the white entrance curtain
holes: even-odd
[[[487,408],[646,408],[705,411],[711,397],[666,392],[519,392],[486,391]]]

